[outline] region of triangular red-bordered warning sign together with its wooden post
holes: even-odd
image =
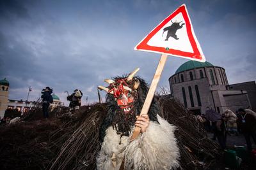
[[[135,46],[134,50],[161,53],[156,73],[154,74],[140,115],[148,114],[168,55],[205,62],[204,53],[196,39],[185,4],[182,4],[165,18],[163,22],[157,25]],[[140,127],[135,127],[131,141],[140,135],[140,131]],[[124,160],[120,169],[124,169]]]

